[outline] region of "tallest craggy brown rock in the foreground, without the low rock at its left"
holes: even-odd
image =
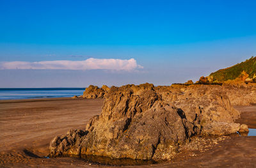
[[[102,114],[86,126],[81,153],[112,158],[150,159],[175,153],[196,134],[182,111],[161,100],[152,84],[112,87]],[[187,132],[187,134],[186,134]],[[169,150],[162,148],[173,146]]]

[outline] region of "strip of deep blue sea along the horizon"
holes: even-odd
[[[85,88],[0,88],[0,100],[60,98],[83,95]]]

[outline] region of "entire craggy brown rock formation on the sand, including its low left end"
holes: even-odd
[[[220,88],[111,87],[100,116],[90,119],[86,130],[70,130],[52,139],[50,155],[170,159],[193,135],[239,131],[241,126],[234,123],[239,112]]]

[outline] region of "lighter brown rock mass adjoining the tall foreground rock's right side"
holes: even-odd
[[[159,87],[157,87],[159,88]],[[166,88],[165,88],[166,89]],[[168,101],[173,102],[175,107],[184,111],[188,121],[193,122],[198,128],[203,129],[202,134],[225,135],[239,130],[230,129],[230,132],[220,130],[212,132],[212,125],[229,125],[239,118],[240,114],[232,107],[228,96],[221,86],[193,85],[179,88],[180,92],[169,88],[168,91],[160,91],[161,95]],[[230,125],[230,128],[233,128]],[[218,126],[217,128],[218,129]],[[233,131],[231,131],[233,130]]]

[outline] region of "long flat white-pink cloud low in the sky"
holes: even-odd
[[[131,59],[95,59],[89,58],[84,61],[12,61],[0,62],[1,70],[124,70],[132,71],[143,68],[136,60]]]

